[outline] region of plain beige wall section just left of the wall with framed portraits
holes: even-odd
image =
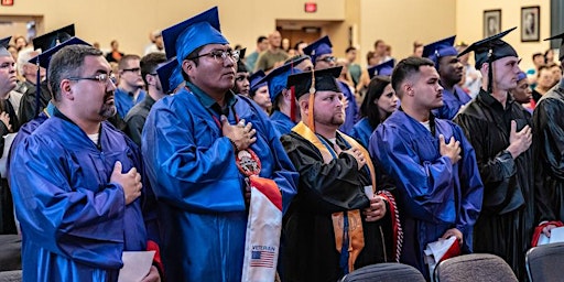
[[[401,59],[413,53],[414,41],[430,43],[454,35],[455,17],[453,0],[360,0],[361,64],[366,65],[366,53],[378,39]]]

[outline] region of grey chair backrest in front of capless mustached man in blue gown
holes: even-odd
[[[447,259],[435,269],[437,282],[517,282],[507,262],[489,253],[471,253]]]

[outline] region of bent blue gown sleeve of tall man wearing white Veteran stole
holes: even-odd
[[[153,106],[143,131],[143,158],[156,198],[191,212],[245,210],[243,180],[229,139],[196,137],[202,124],[166,107]],[[198,145],[198,138],[210,139],[209,145]]]

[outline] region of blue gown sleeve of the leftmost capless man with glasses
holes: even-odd
[[[65,258],[99,268],[121,265],[124,194],[119,184],[97,192],[72,187],[78,160],[52,141],[30,135],[18,145],[10,174],[17,215],[32,241]],[[88,162],[84,162],[88,163]],[[80,165],[88,165],[82,163]]]

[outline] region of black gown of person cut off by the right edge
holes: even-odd
[[[547,91],[533,113],[536,218],[564,221],[564,80]]]

